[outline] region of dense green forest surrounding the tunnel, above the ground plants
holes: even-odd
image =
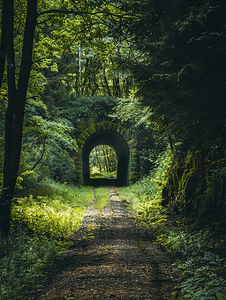
[[[80,118],[110,116],[143,137],[146,186],[161,166],[161,205],[225,233],[225,1],[0,6],[0,229],[9,233],[18,197],[49,196],[48,182],[77,185]]]

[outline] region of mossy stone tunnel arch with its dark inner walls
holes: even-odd
[[[128,130],[117,123],[102,121],[85,128],[77,139],[77,180],[81,185],[124,186],[139,177],[136,142]],[[97,145],[112,146],[118,156],[117,179],[90,179],[89,154]]]

